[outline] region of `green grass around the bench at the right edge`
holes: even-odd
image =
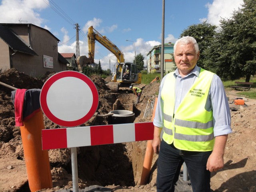
[[[245,82],[245,78],[241,78],[241,79],[234,80],[234,81],[231,81],[231,80],[222,81],[225,90],[230,91],[231,90],[230,86],[236,85],[235,84],[236,81]],[[250,88],[249,91],[248,90],[245,90],[245,91],[241,90],[237,94],[241,95],[241,96],[246,96],[247,98],[250,98],[250,99],[256,99],[256,77],[252,76],[250,78],[250,82],[252,82],[254,84],[252,85],[252,87]]]

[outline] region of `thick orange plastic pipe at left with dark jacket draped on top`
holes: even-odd
[[[23,122],[20,127],[24,158],[31,192],[52,188],[52,176],[48,150],[42,150],[42,129],[44,119],[42,110]]]

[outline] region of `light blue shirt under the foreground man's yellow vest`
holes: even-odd
[[[194,84],[194,81],[198,78],[199,73],[200,68],[196,65],[195,68],[190,72],[190,74],[182,78],[182,76],[180,76],[179,74],[178,69],[176,69],[175,73],[173,74],[176,78],[174,114],[178,106],[180,105],[180,102],[190,90],[192,84]],[[168,75],[172,74],[167,74],[166,76]],[[166,80],[166,76],[164,76],[160,84],[155,117],[153,120],[154,126],[159,128],[164,127],[164,101],[162,100],[161,92],[164,86],[164,81]],[[228,100],[222,81],[220,80],[220,77],[216,74],[214,74],[212,78],[212,83],[207,97],[205,109],[207,111],[212,110],[213,112],[214,136],[225,135],[232,132],[230,127],[231,116]]]

